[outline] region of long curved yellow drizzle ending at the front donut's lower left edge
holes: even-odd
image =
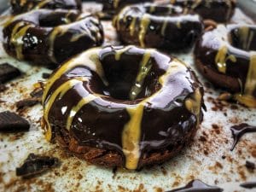
[[[61,86],[53,92],[51,96],[49,96],[49,100],[44,103],[44,121],[45,121],[45,138],[47,141],[51,140],[52,137],[52,128],[49,124],[49,110],[51,109],[53,103],[55,102],[55,99],[57,97],[61,98],[64,96],[68,90],[70,90],[74,85],[79,84],[83,79],[70,79],[64,84],[61,84]]]

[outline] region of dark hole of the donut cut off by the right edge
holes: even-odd
[[[230,44],[246,51],[256,50],[256,27],[240,26],[230,31]]]

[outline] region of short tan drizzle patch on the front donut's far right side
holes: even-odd
[[[192,98],[189,98],[185,101],[185,106],[189,110],[189,112],[195,114],[196,117],[196,125],[200,125],[200,114],[201,114],[201,92],[200,89],[197,88]]]

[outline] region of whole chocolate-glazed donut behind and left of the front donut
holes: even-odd
[[[103,41],[102,24],[76,10],[38,9],[10,19],[3,28],[3,47],[18,60],[60,64]]]

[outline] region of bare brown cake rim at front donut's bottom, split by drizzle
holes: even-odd
[[[86,160],[87,162],[97,166],[124,166],[123,158],[118,152],[104,148],[79,145],[76,139],[71,137],[66,129],[60,130],[55,132],[55,139],[57,143],[59,143],[62,148],[66,148],[67,151],[71,152],[71,154],[79,157],[79,159]],[[189,131],[189,133],[187,133],[185,137],[182,138],[179,143],[168,146],[166,148],[161,148],[159,150],[154,150],[154,152],[150,152],[140,161],[139,169],[144,166],[157,165],[165,162],[166,160],[170,160],[193,140],[196,131],[197,128],[194,127],[191,131]]]

